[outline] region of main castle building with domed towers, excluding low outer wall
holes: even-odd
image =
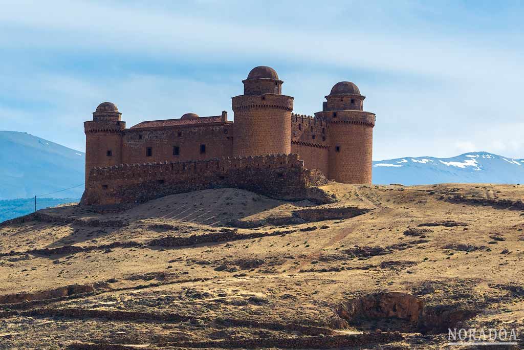
[[[104,184],[104,180],[111,179],[104,178],[100,172],[105,168],[179,162],[196,164],[199,161],[208,161],[206,167],[209,167],[212,159],[264,155],[298,155],[304,169],[318,170],[328,179],[371,183],[376,118],[374,113],[363,111],[365,96],[355,84],[335,84],[331,93],[325,96],[322,111],[312,117],[292,113],[293,97],[282,95],[283,81],[274,69],[256,67],[242,82],[244,94],[232,99],[234,122],[228,121],[227,112],[205,117],[187,113],[178,119],[147,121],[126,128],[116,105],[100,104],[93,113],[93,120],[84,123],[84,196],[89,191],[100,192],[99,187],[111,190]],[[294,164],[294,159],[285,161],[288,162]],[[270,162],[264,160],[264,163]],[[260,166],[260,161],[256,166]],[[217,167],[226,171],[224,166]],[[133,176],[124,178],[133,179],[136,186],[140,185],[142,180],[135,179],[135,176],[141,178],[140,174],[136,175],[137,169],[129,171]],[[148,172],[150,168],[140,171]],[[122,172],[126,170],[123,168]],[[114,177],[114,171],[111,173]],[[165,182],[163,179],[156,181],[157,184]],[[116,184],[122,185],[122,182]],[[105,195],[105,200],[100,195],[91,198],[87,201],[91,204],[111,202],[110,195]]]

